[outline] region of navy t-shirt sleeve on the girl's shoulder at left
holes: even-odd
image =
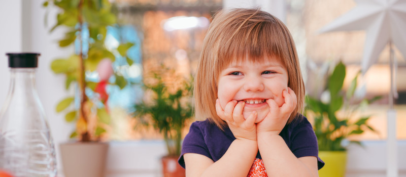
[[[201,154],[212,159],[205,143],[204,132],[202,132],[199,126],[199,121],[193,122],[192,125],[190,125],[189,133],[183,140],[181,156],[178,159],[178,163],[183,168],[185,168],[183,155],[186,153]]]

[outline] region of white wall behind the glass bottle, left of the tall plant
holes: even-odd
[[[63,29],[49,33],[56,23],[56,10],[49,12],[48,26],[44,24],[46,9],[42,0],[0,0],[0,105],[4,104],[9,90],[10,74],[8,52],[41,53],[37,70],[37,89],[43,103],[59,160],[59,143],[67,141],[72,125],[64,122],[64,115],[55,112],[55,106],[67,95],[64,90],[64,77],[50,70],[51,61],[66,57],[73,49],[61,49],[57,40],[63,37]]]

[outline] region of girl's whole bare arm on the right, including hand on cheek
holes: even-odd
[[[285,103],[279,107],[269,99],[269,113],[257,124],[258,149],[268,176],[318,176],[317,158],[296,156],[281,136],[283,127],[297,105],[295,93],[283,91]]]

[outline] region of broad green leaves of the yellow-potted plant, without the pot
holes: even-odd
[[[328,77],[327,92],[329,92],[330,101],[328,103],[322,102],[319,98],[306,97],[306,116],[313,116],[313,128],[316,133],[320,151],[344,151],[342,141],[351,135],[362,134],[365,130],[375,131],[368,123],[370,116],[363,116],[355,118],[357,121],[350,119],[353,113],[357,111],[360,106],[367,106],[378,100],[380,97],[368,100],[363,99],[358,105],[351,105],[354,100],[354,93],[357,87],[358,75],[352,79],[347,92],[343,91],[344,78],[346,76],[346,67],[340,62],[334,71]],[[337,112],[342,111],[343,117],[337,117]],[[376,131],[375,131],[376,132]],[[351,141],[351,143],[360,144],[358,141]]]

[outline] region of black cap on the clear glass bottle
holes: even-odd
[[[39,53],[7,53],[10,68],[37,68]]]

